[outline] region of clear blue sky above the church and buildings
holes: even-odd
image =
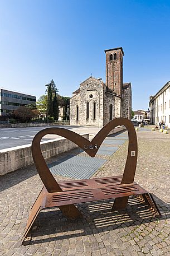
[[[39,97],[53,78],[71,96],[90,73],[105,81],[104,50],[120,46],[133,110],[147,110],[170,80],[170,1],[0,1],[0,87]]]

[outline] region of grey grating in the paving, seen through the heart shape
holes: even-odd
[[[48,165],[52,174],[74,179],[89,179],[107,160],[98,156],[111,156],[128,139],[127,132],[108,136],[95,157],[81,156],[80,148],[68,152],[66,156]],[[113,146],[114,145],[114,146]]]

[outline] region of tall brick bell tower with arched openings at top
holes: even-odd
[[[123,48],[105,50],[106,86],[114,94],[122,96],[123,90]]]

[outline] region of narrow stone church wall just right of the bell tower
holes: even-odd
[[[132,118],[132,91],[130,86],[123,90],[123,117],[129,120]]]

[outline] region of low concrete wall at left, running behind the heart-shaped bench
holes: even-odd
[[[82,134],[83,137],[89,139],[89,134]],[[59,155],[72,148],[76,148],[75,143],[65,138],[51,139],[50,141],[41,142],[41,151],[45,159]],[[11,171],[26,167],[33,163],[31,144],[6,148],[0,151],[0,175],[10,173]]]

